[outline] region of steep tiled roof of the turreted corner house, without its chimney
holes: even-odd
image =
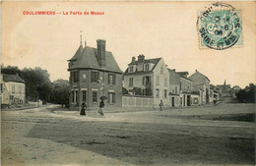
[[[96,48],[89,46],[83,48],[83,46],[80,46],[76,54],[69,60],[76,60],[76,62],[74,62],[74,65],[72,65],[68,70],[90,68],[109,72],[122,73],[111,52],[105,51],[105,66],[102,67],[100,67],[97,63],[96,54]]]

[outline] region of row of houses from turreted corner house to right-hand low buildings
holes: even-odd
[[[165,107],[180,107],[213,103],[221,96],[199,71],[191,76],[176,72],[162,58],[132,57],[123,73],[102,39],[96,40],[96,48],[81,42],[68,62],[71,106],[87,102],[89,107],[96,107],[105,96],[108,107],[159,107],[160,100]],[[123,94],[126,90],[128,93]]]

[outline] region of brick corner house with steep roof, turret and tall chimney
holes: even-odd
[[[96,48],[79,46],[69,60],[70,105],[98,107],[105,96],[107,107],[122,106],[122,71],[111,52],[105,50],[105,40],[97,39]]]

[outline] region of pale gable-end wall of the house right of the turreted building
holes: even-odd
[[[161,73],[162,68],[162,73]],[[158,83],[158,77],[160,78],[160,81]],[[164,83],[166,80],[166,84]],[[159,89],[159,96],[157,96],[157,89]],[[166,90],[166,97],[164,97],[164,89]],[[154,69],[154,85],[153,85],[153,93],[154,93],[154,107],[157,108],[160,105],[160,100],[162,100],[164,107],[170,107],[169,106],[169,72],[167,70],[167,67],[163,61],[163,59],[160,59],[160,62]]]

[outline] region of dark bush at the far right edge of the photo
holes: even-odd
[[[236,93],[238,101],[255,103],[255,88],[255,84],[250,83],[249,86],[246,86],[244,89],[240,89]]]

